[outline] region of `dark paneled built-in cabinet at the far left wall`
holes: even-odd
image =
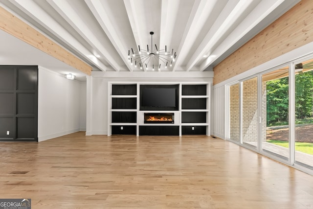
[[[38,66],[0,66],[0,140],[37,141]]]

